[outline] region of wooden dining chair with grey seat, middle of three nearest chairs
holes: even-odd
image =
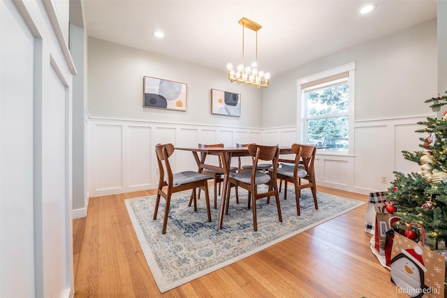
[[[279,195],[277,187],[277,166],[279,157],[279,147],[278,146],[262,146],[258,144],[248,145],[249,154],[253,159],[253,167],[251,170],[230,173],[228,177],[228,183],[235,186],[240,186],[249,191],[249,202],[248,207],[250,207],[250,202],[253,205],[253,228],[255,231],[258,230],[258,220],[256,218],[256,200],[261,198],[269,198],[274,195],[277,202],[277,211],[279,222],[282,222],[281,216],[281,206],[279,205]],[[272,171],[271,172],[261,172],[256,170],[258,168],[259,161],[271,161]],[[265,184],[268,186],[268,191],[263,193],[258,193],[258,186]],[[226,198],[226,214],[228,214],[228,204],[230,195]]]

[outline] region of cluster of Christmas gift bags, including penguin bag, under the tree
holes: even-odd
[[[445,244],[435,247],[418,223],[411,223],[405,231],[394,230],[393,223],[400,221],[395,211],[386,193],[369,194],[365,232],[373,235],[372,253],[390,270],[390,280],[409,297],[446,297]],[[419,232],[414,232],[411,225],[416,225]]]

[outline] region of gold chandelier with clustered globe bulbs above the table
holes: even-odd
[[[262,26],[245,17],[242,17],[238,24],[242,25],[242,64],[239,64],[236,70],[233,69],[233,64],[229,63],[226,65],[226,69],[228,70],[228,80],[237,82],[237,84],[242,83],[244,85],[250,85],[251,87],[268,88],[270,73],[264,73],[262,70],[258,70],[258,30],[261,29]],[[246,27],[256,32],[255,61],[251,66],[245,66],[244,64],[244,32]]]

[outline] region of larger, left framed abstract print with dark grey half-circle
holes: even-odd
[[[143,107],[186,112],[186,95],[185,83],[143,77]]]

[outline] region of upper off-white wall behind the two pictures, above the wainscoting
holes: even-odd
[[[263,125],[262,90],[229,82],[225,66],[220,72],[96,38],[89,38],[88,47],[91,117],[250,128]],[[186,83],[186,112],[142,107],[144,76]],[[211,89],[241,94],[241,116],[211,114]]]

